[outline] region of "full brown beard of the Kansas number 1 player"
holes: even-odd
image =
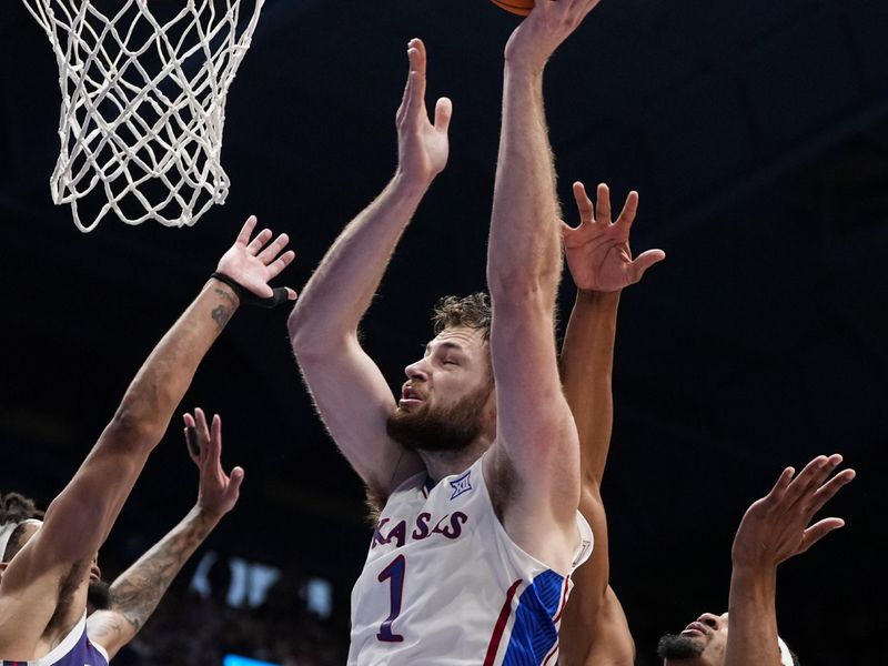
[[[461,398],[450,407],[424,404],[414,413],[401,408],[385,422],[389,436],[410,451],[457,452],[474,442],[484,423],[484,407],[493,385]]]

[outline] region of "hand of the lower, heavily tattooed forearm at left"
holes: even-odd
[[[216,518],[221,518],[238,503],[243,481],[243,468],[234,467],[231,476],[222,468],[222,418],[213,416],[208,427],[203,410],[198,407],[194,415],[185,413],[185,444],[188,453],[200,470],[198,506]]]

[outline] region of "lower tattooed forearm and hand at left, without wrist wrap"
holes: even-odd
[[[231,476],[222,467],[222,420],[213,416],[208,425],[203,411],[185,414],[185,442],[189,455],[200,471],[198,503],[135,563],[111,584],[109,606],[87,620],[90,640],[101,645],[109,658],[132,640],[173,578],[213,528],[238,502],[243,470]]]

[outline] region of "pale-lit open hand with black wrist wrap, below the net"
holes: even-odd
[[[271,229],[263,229],[251,240],[255,225],[256,216],[250,215],[241,233],[238,234],[238,240],[219,260],[216,271],[224,273],[255,295],[268,299],[273,293],[269,282],[293,261],[295,254],[292,250],[283,252],[290,242],[285,233],[269,244],[274,234]],[[293,301],[296,292],[286,287],[286,297]]]

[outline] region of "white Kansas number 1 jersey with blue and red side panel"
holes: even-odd
[[[401,484],[376,524],[352,589],[350,666],[554,665],[572,587],[500,523],[482,458],[434,487]],[[592,529],[577,513],[581,546]]]

